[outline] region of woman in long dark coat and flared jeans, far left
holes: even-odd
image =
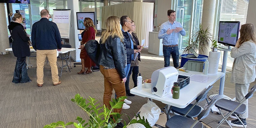
[[[30,49],[28,41],[30,40],[24,30],[22,23],[22,15],[15,13],[8,29],[11,31],[12,42],[12,52],[15,57],[17,57],[14,73],[13,73],[13,83],[25,83],[31,82],[28,76],[26,57],[30,56]]]

